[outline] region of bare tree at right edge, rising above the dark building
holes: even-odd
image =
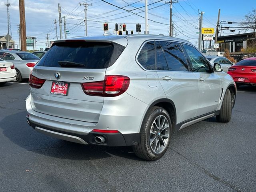
[[[253,9],[244,16],[243,22],[240,26],[243,26],[245,31],[253,30],[254,38],[256,39],[256,9]]]

